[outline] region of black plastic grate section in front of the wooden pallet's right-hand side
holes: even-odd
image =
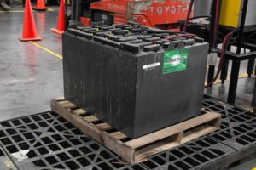
[[[207,136],[183,144],[160,155],[151,156],[143,162],[149,169],[189,170],[203,167],[209,162],[228,156],[235,150]]]

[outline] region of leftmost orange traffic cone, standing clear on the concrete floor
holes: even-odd
[[[19,39],[20,41],[38,41],[42,39],[41,37],[38,37],[30,0],[26,0],[25,3],[23,33]]]

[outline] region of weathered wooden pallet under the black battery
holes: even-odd
[[[114,130],[107,123],[86,113],[63,97],[52,99],[50,106],[52,111],[73,123],[84,134],[103,144],[129,163],[143,161],[148,156],[216,131],[221,122],[221,116],[218,113],[207,112],[140,138],[129,139],[124,133]]]

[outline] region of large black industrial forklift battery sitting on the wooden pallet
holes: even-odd
[[[63,34],[65,99],[137,138],[201,115],[208,44],[135,23]]]

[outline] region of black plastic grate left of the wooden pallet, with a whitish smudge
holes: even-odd
[[[20,168],[29,164],[32,169],[146,169],[114,163],[120,162],[118,156],[52,112],[0,124],[0,144]]]

